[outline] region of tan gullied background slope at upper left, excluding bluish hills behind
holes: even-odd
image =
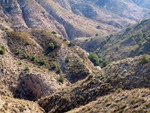
[[[13,27],[18,30],[45,28],[70,39],[118,30],[113,26],[77,16],[52,0],[1,0],[0,3],[0,15],[12,21]],[[97,29],[97,26],[102,29]]]

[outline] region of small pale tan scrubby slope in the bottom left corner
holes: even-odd
[[[45,113],[35,102],[0,96],[1,113]]]

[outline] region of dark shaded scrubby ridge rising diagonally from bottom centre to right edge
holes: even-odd
[[[96,100],[97,97],[111,95],[117,89],[149,88],[149,67],[150,63],[141,63],[141,57],[114,62],[104,71],[39,100],[39,104],[50,113],[66,112]]]

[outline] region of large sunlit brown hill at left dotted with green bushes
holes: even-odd
[[[37,100],[98,71],[84,50],[57,34],[17,32],[1,23],[1,95]]]

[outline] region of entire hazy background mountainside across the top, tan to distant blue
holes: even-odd
[[[0,0],[0,3],[0,16],[12,22],[14,29],[44,28],[69,39],[90,37],[97,32],[110,34],[128,23],[148,18],[150,12],[134,2],[117,0]]]

